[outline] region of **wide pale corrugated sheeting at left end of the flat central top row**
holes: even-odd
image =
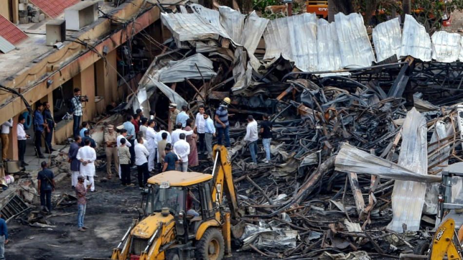
[[[317,71],[317,17],[314,13],[272,20],[264,31],[264,59],[294,61],[302,71]]]

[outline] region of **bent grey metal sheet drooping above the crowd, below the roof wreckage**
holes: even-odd
[[[160,82],[180,82],[184,81],[185,78],[210,80],[217,75],[213,70],[212,60],[200,53],[180,61],[171,60],[169,65],[169,68],[163,69],[159,73]]]

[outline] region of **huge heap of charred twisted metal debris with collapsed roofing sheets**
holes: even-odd
[[[448,77],[448,64],[391,35],[401,31],[395,20],[373,32],[376,62],[366,31],[350,32],[357,45],[328,37],[356,24],[355,14],[334,25],[309,14],[269,21],[192,4],[161,18],[173,37],[132,105],[148,113],[165,100],[188,105],[194,118],[200,104],[213,115],[231,98],[229,156],[244,209],[233,230],[240,250],[279,259],[390,259],[431,236],[425,229],[440,222],[440,172],[462,160],[461,71]],[[282,29],[289,23],[294,31]],[[420,26],[407,17],[404,31],[429,38]],[[393,46],[380,44],[385,37]],[[241,144],[246,117],[259,121],[264,113],[273,123],[272,160],[251,164]]]

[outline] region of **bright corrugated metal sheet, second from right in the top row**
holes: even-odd
[[[431,50],[431,38],[424,26],[419,24],[412,16],[405,15],[401,56],[412,56],[423,61],[430,61]]]

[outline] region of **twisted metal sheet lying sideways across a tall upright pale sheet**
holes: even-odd
[[[343,143],[341,146],[334,166],[337,171],[370,174],[394,180],[418,181],[417,183],[441,181],[441,178],[438,176],[423,175],[414,172],[407,169],[408,167],[379,158],[348,143]]]

